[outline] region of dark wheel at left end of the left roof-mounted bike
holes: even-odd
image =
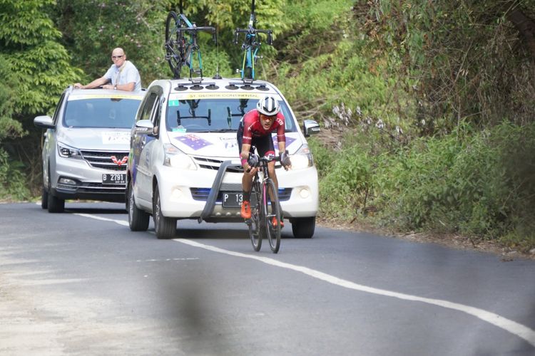
[[[184,35],[180,28],[180,19],[175,11],[170,11],[165,21],[165,60],[173,72],[174,78],[180,78],[180,69],[184,61]]]

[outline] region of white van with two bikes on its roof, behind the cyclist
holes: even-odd
[[[312,237],[317,170],[305,137],[318,132],[319,125],[305,120],[301,131],[274,85],[225,78],[155,80],[149,86],[128,156],[126,208],[132,231],[148,229],[150,215],[159,239],[175,235],[177,219],[243,223],[243,167],[236,132],[245,112],[266,94],[281,105],[292,161],[288,171],[276,165],[283,215],[295,237]]]

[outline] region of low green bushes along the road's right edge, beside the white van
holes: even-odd
[[[337,159],[320,163],[322,214],[535,246],[535,124],[482,132],[461,125],[394,149],[381,135],[376,128],[346,137]],[[377,214],[362,214],[370,207]]]

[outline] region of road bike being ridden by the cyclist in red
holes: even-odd
[[[260,251],[262,239],[267,237],[273,253],[277,253],[280,248],[280,223],[282,214],[279,204],[279,195],[275,182],[267,174],[267,163],[280,160],[275,155],[265,155],[256,157],[258,170],[253,178],[253,189],[251,190],[251,218],[245,223],[249,227],[249,236],[255,251]],[[252,157],[252,156],[251,156]],[[275,219],[276,225],[272,221]]]

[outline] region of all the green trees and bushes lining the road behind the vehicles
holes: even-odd
[[[0,199],[40,194],[41,132],[63,88],[125,48],[143,85],[169,77],[178,1],[0,0]],[[188,1],[205,73],[233,75],[250,1]],[[535,1],[257,1],[260,77],[322,132],[320,216],[399,233],[535,248]]]

